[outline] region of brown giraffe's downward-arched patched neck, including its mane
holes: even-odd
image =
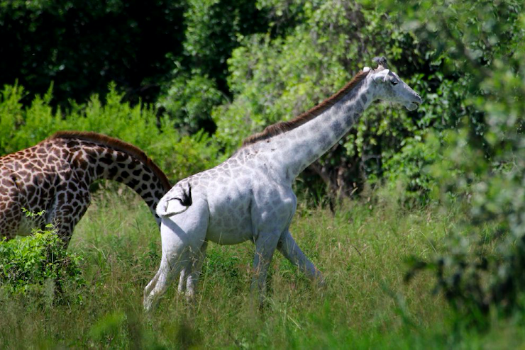
[[[59,132],[50,137],[53,140],[67,147],[68,160],[78,181],[86,186],[99,179],[125,184],[143,198],[160,223],[155,207],[171,185],[142,150],[94,132]]]

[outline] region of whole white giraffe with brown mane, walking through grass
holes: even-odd
[[[255,242],[252,288],[260,295],[276,248],[309,278],[323,281],[289,232],[297,207],[292,182],[346,135],[372,101],[401,103],[409,111],[421,103],[385,57],[374,60],[377,69],[365,67],[326,101],[252,135],[226,162],[179,181],[162,197],[162,259],[144,290],[145,310],[155,307],[179,273],[179,291],[194,295],[208,241]]]

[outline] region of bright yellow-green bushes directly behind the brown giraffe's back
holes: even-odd
[[[36,96],[30,106],[20,101],[21,86],[4,86],[0,96],[0,154],[31,147],[58,130],[101,132],[130,142],[144,150],[172,179],[182,179],[218,162],[219,147],[203,132],[182,135],[166,116],[157,117],[153,107],[131,106],[123,94],[109,85],[106,100],[93,95],[87,104],[73,103],[69,111],[53,111],[52,87]]]

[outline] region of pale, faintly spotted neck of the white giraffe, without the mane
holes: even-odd
[[[270,147],[270,162],[286,179],[293,181],[306,166],[336,145],[370,106],[374,99],[371,85],[370,79],[363,79],[316,118],[262,141],[264,147]]]

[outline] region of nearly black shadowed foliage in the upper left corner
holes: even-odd
[[[54,81],[55,103],[65,105],[117,81],[130,98],[153,102],[175,67],[170,57],[182,54],[184,8],[163,0],[2,0],[0,84],[18,80],[44,94]]]

